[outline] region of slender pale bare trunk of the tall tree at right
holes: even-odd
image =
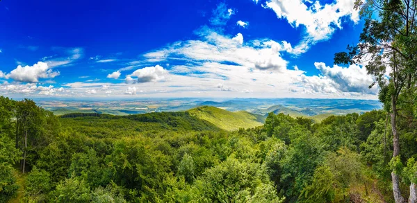
[[[396,117],[397,117],[397,100],[395,98],[395,95],[391,96],[391,105],[392,105],[392,113],[391,113],[391,126],[393,130],[393,158],[398,157],[400,155],[400,137],[398,136],[397,132],[397,123],[396,123]],[[394,200],[395,203],[404,203],[404,197],[401,195],[400,191],[400,179],[398,175],[394,173],[394,171],[391,173],[391,178],[393,181],[393,194],[394,194]]]

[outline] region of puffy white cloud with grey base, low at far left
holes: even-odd
[[[58,71],[52,71],[51,67],[45,62],[38,62],[33,66],[17,66],[6,78],[20,82],[38,82],[40,78],[55,78],[59,76]]]

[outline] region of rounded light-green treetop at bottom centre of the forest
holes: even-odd
[[[232,157],[206,170],[192,193],[196,202],[280,202],[261,165]]]

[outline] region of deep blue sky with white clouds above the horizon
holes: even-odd
[[[0,94],[376,98],[353,2],[3,0]]]

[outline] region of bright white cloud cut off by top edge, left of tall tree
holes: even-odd
[[[286,19],[292,26],[305,26],[304,40],[311,43],[329,39],[336,28],[342,28],[343,17],[349,17],[354,23],[359,21],[354,0],[336,0],[325,5],[319,1],[270,0],[263,7],[274,10],[279,19]]]

